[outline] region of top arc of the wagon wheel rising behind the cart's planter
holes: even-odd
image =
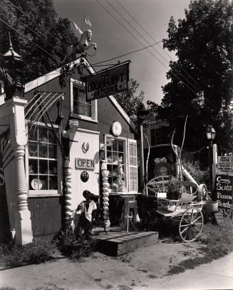
[[[170,183],[171,179],[172,176],[169,175],[156,176],[153,179],[150,179],[150,181],[145,184],[143,194],[156,196],[157,192],[166,192],[167,185]]]

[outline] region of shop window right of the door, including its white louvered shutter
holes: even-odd
[[[121,164],[125,177],[125,188],[128,191],[138,191],[138,158],[135,140],[105,137],[105,160],[109,171],[108,183],[111,191],[118,184],[118,165]]]

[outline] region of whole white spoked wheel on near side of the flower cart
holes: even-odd
[[[179,234],[185,243],[195,241],[202,233],[204,219],[202,211],[198,208],[190,207],[180,219]]]

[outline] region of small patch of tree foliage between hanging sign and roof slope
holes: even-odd
[[[135,79],[130,79],[129,81],[129,89],[128,92],[123,92],[119,94],[115,94],[114,97],[123,107],[125,112],[130,116],[130,119],[133,121],[137,120],[137,109],[141,102],[143,102],[145,92],[140,91],[137,93],[138,87],[140,84]],[[138,96],[136,96],[138,94]]]

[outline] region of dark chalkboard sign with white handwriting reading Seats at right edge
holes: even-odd
[[[233,176],[217,175],[216,176],[216,196],[219,204],[219,210],[222,211],[223,216],[232,217],[232,190],[233,190]]]

